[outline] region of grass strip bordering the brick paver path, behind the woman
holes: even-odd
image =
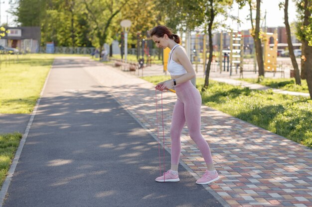
[[[169,76],[148,76],[157,83]],[[204,79],[196,79],[201,90]],[[201,93],[203,104],[231,116],[312,147],[312,100],[269,91],[250,90],[226,83],[209,81]]]

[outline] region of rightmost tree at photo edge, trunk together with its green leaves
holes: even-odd
[[[305,72],[310,97],[312,98],[312,1],[296,0],[297,10],[300,17],[297,37],[302,41],[302,72]]]

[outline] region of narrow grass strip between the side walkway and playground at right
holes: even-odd
[[[238,80],[258,83],[261,85],[269,86],[271,88],[278,88],[282,90],[295,91],[309,93],[308,84],[306,80],[301,80],[301,85],[296,85],[295,78],[264,78],[258,80],[258,78],[239,78]]]

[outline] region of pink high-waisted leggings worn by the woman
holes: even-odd
[[[178,164],[181,152],[181,132],[187,125],[189,136],[197,144],[207,165],[212,164],[212,157],[207,141],[200,133],[201,96],[190,80],[174,87],[177,101],[175,103],[170,136],[171,136],[171,164]]]

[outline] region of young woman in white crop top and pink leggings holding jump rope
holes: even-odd
[[[196,181],[197,184],[208,184],[219,180],[214,169],[208,143],[200,133],[200,107],[201,96],[196,87],[191,83],[195,71],[186,51],[179,45],[180,38],[165,26],[156,26],[151,30],[151,36],[158,48],[170,48],[167,69],[171,79],[156,85],[157,90],[173,89],[177,100],[172,113],[171,137],[171,169],[156,178],[157,182],[178,182],[178,164],[181,151],[181,132],[186,123],[190,137],[197,144],[207,164],[205,174]]]

